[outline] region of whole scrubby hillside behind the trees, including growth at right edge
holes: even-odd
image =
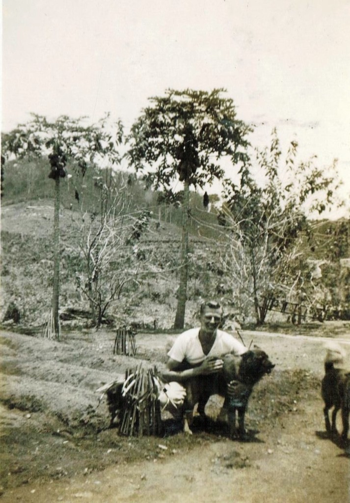
[[[73,169],[70,172],[74,173]],[[99,211],[96,176],[111,176],[110,172],[87,171],[65,179],[62,184],[61,208],[61,317],[73,317],[69,312],[84,312],[88,317],[89,304],[77,290],[76,273],[81,273],[82,261],[77,250],[77,222],[88,212]],[[104,320],[115,323],[135,321],[149,328],[170,328],[177,305],[179,280],[179,249],[181,245],[181,211],[165,204],[157,204],[157,194],[145,190],[143,181],[131,173],[116,173],[120,183],[128,184],[128,191],[135,219],[144,209],[152,212],[150,224],[139,240],[125,245],[138,258],[138,283],[128,285],[117,302],[113,303]],[[50,308],[52,288],[52,230],[50,219],[53,207],[50,201],[52,184],[48,183],[47,161],[10,161],[5,165],[4,195],[2,198],[2,300],[0,317],[15,305],[20,313],[20,322],[39,325],[45,320]],[[79,201],[75,198],[75,190]],[[215,199],[215,197],[214,197]],[[16,204],[15,204],[16,203]],[[190,226],[190,272],[186,325],[193,325],[201,298],[221,297],[225,310],[232,319],[251,322],[248,313],[233,305],[235,285],[223,274],[222,227],[217,225],[214,209],[205,211],[203,200],[191,193]],[[215,239],[213,239],[213,236]],[[324,304],[328,315],[348,319],[346,307],[342,313],[336,311],[343,302],[341,288],[347,288],[349,278],[346,271],[339,270],[339,259],[347,257],[348,222],[318,221],[312,236],[302,235],[305,257],[305,277],[312,272],[315,263],[321,264],[322,277],[314,279],[320,295],[317,304]],[[74,244],[75,243],[75,244]],[[222,243],[222,244],[220,244]],[[75,249],[75,251],[74,251]],[[308,260],[314,261],[309,263]],[[310,298],[309,302],[314,302]],[[331,308],[331,309],[330,309]],[[340,307],[341,309],[341,307]],[[74,311],[75,310],[75,311]],[[80,310],[80,311],[79,311]],[[280,309],[278,309],[280,311]],[[331,313],[331,310],[333,311]],[[276,316],[269,311],[268,320]],[[244,316],[243,316],[244,315]],[[270,316],[270,317],[269,317]],[[280,314],[286,320],[288,314]],[[88,318],[89,319],[89,318]],[[307,318],[309,320],[309,318]],[[86,318],[84,318],[84,322]],[[91,322],[91,320],[90,320]],[[69,321],[70,324],[81,324]]]

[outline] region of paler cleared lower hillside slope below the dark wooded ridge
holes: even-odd
[[[74,274],[77,260],[78,212],[61,209],[61,310],[88,310],[86,299],[76,291]],[[25,325],[42,324],[51,306],[53,205],[50,200],[10,204],[2,207],[2,263],[0,319],[14,304]],[[134,321],[141,326],[170,328],[175,316],[179,284],[181,228],[151,219],[136,243],[139,270],[147,263],[147,273],[138,276],[139,286],[122,292],[108,312],[112,319]],[[220,282],[219,250],[213,241],[190,237],[190,281],[187,324],[193,323],[200,297],[216,294]],[[153,271],[153,273],[152,273]],[[77,322],[78,323],[78,322]],[[72,324],[72,322],[71,322]],[[74,323],[73,323],[74,324]]]

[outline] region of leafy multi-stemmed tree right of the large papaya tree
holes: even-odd
[[[264,323],[269,302],[279,293],[302,295],[302,235],[310,235],[308,213],[323,213],[337,199],[336,161],[320,169],[315,157],[296,163],[297,143],[291,142],[283,162],[273,130],[270,148],[256,150],[256,164],[241,169],[238,185],[225,192],[219,221],[230,230],[223,264],[242,309]],[[255,179],[256,167],[264,178]],[[254,171],[255,169],[255,171]],[[238,300],[238,299],[236,299]]]

